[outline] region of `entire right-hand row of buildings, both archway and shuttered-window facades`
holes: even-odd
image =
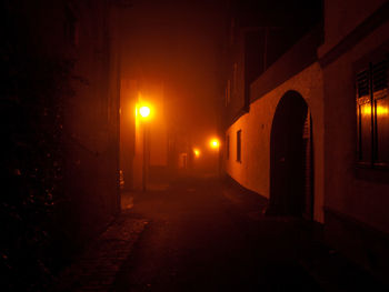
[[[316,9],[292,40],[280,19],[232,16],[225,171],[267,198],[269,215],[320,222],[332,246],[385,279],[388,3],[327,0]]]

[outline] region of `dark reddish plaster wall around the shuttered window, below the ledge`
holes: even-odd
[[[389,232],[389,184],[357,179],[357,117],[353,63],[389,39],[379,27],[323,69],[326,97],[326,205]]]

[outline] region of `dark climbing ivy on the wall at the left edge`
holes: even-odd
[[[0,44],[1,274],[7,291],[40,291],[58,268],[54,210],[67,200],[62,131],[72,61],[29,48],[11,9],[2,9]]]

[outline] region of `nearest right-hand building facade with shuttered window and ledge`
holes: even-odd
[[[389,3],[326,1],[327,240],[388,281]]]

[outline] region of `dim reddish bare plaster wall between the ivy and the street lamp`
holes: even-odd
[[[108,6],[79,7],[79,38],[74,40],[72,89],[64,109],[66,179],[70,198],[66,221],[73,222],[74,241],[93,238],[119,211],[118,109],[119,39]],[[112,13],[112,11],[110,11]],[[104,16],[97,18],[97,16]],[[96,17],[96,18],[93,18]],[[98,40],[98,41],[97,41]],[[97,53],[101,51],[101,53]]]

